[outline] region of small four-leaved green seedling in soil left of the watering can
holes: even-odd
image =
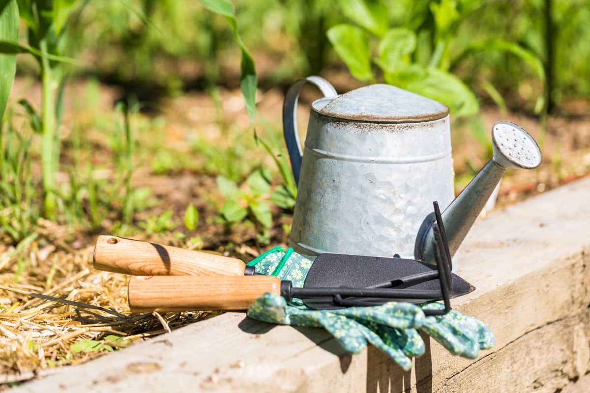
[[[217,186],[225,197],[221,215],[228,223],[248,218],[257,224],[259,232],[263,232],[273,224],[273,215],[267,202],[271,189],[268,174],[261,169],[255,170],[244,183],[245,190],[227,177],[217,177]]]

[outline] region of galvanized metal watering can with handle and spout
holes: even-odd
[[[302,152],[296,108],[306,82],[324,98],[311,105]],[[320,77],[295,82],[283,105],[299,187],[289,245],[310,257],[399,255],[435,263],[430,213],[437,200],[448,206],[442,219],[453,256],[504,170],[533,169],[541,153],[516,124],[494,124],[494,157],[453,200],[449,123],[445,105],[391,85],[338,95]]]

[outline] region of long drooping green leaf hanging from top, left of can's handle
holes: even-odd
[[[248,51],[248,48],[238,33],[238,21],[235,19],[234,4],[229,0],[199,0],[199,2],[209,11],[225,16],[228,24],[230,24],[231,31],[234,33],[235,41],[240,47],[242,55],[240,66],[240,87],[242,89],[242,95],[244,96],[246,111],[250,116],[250,120],[254,123],[256,112],[256,87],[258,85],[256,68],[254,67],[254,59],[252,58],[250,51]]]

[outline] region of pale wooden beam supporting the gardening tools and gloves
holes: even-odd
[[[496,335],[496,346],[475,361],[431,342],[430,356],[403,372],[375,348],[344,354],[320,329],[271,326],[226,313],[15,391],[567,388],[590,369],[588,217],[590,179],[583,179],[491,214],[471,230],[459,253],[459,273],[477,289],[453,306],[482,319]]]

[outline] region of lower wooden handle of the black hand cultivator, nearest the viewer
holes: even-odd
[[[133,312],[244,310],[265,292],[280,295],[274,276],[139,276],[127,286]]]

